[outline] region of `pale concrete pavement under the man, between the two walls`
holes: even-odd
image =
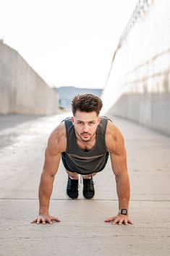
[[[0,256],[170,255],[170,138],[118,117],[114,123],[126,142],[129,217],[134,224],[104,223],[118,211],[110,161],[94,177],[92,200],[82,197],[82,183],[79,199],[67,199],[67,175],[60,164],[50,208],[61,223],[30,224],[38,215],[38,183],[48,135],[64,115],[0,128]],[[11,139],[5,143],[4,138]]]

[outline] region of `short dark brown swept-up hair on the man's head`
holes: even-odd
[[[75,115],[76,111],[93,112],[99,115],[103,107],[102,100],[93,94],[77,94],[72,99],[72,113]]]

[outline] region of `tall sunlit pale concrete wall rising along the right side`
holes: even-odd
[[[170,1],[152,1],[116,54],[103,93],[106,115],[170,136]]]

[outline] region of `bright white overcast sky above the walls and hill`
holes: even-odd
[[[0,0],[0,38],[50,86],[103,88],[138,0]]]

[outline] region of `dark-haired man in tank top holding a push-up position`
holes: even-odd
[[[111,120],[99,116],[102,105],[101,99],[93,94],[75,96],[72,99],[73,117],[65,119],[51,133],[39,186],[39,216],[32,223],[60,221],[48,212],[60,159],[68,173],[68,197],[77,199],[78,175],[82,174],[83,195],[86,199],[91,199],[95,194],[93,176],[103,170],[109,154],[116,177],[119,212],[105,221],[120,225],[132,223],[128,217],[130,192],[124,139]]]

